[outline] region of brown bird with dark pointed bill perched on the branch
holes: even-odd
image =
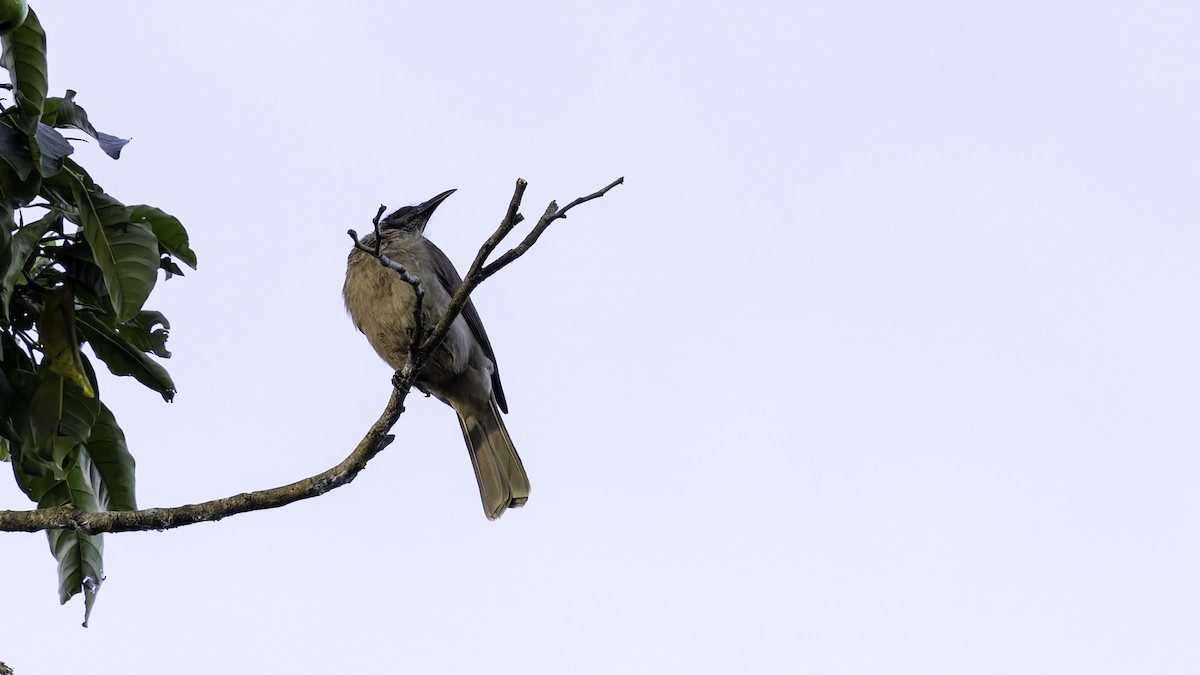
[[[454,192],[446,190],[421,204],[402,207],[379,221],[379,252],[420,279],[425,293],[422,317],[431,328],[462,283],[450,258],[425,237],[433,211]],[[361,244],[373,250],[376,234],[367,234]],[[403,369],[413,340],[425,339],[414,335],[413,286],[355,246],[347,258],[342,297],[354,325],[376,353],[392,370]],[[500,419],[502,411],[509,412],[508,402],[492,344],[470,299],[445,340],[430,354],[415,386],[457,413],[487,518],[494,520],[505,509],[524,506],[529,477]]]

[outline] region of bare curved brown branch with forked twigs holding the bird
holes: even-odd
[[[41,508],[36,510],[0,510],[0,531],[38,532],[41,530],[74,530],[84,534],[100,534],[103,532],[170,530],[196,522],[221,520],[222,518],[236,515],[239,513],[278,508],[300,500],[319,497],[335,488],[346,485],[347,483],[354,480],[359,472],[366,467],[367,462],[395,440],[395,436],[391,436],[389,431],[404,412],[404,400],[408,398],[409,389],[413,387],[413,383],[416,382],[416,377],[420,375],[421,369],[425,368],[428,356],[437,348],[437,346],[445,338],[446,333],[450,330],[450,325],[462,311],[462,307],[467,303],[467,298],[470,297],[470,292],[474,291],[475,287],[478,287],[485,279],[496,274],[504,267],[509,265],[512,261],[524,255],[524,252],[538,241],[541,233],[550,227],[550,223],[558,219],[566,217],[566,211],[578,204],[602,197],[606,192],[624,183],[624,178],[618,178],[606,187],[598,190],[587,197],[580,197],[562,209],[558,208],[556,202],[551,202],[546,208],[546,213],[538,220],[538,225],[534,226],[533,231],[526,235],[521,244],[506,251],[496,261],[487,263],[487,257],[496,251],[496,247],[504,240],[504,237],[508,235],[516,225],[524,220],[520,209],[521,198],[524,196],[524,189],[528,184],[524,179],[517,179],[516,189],[514,190],[512,199],[509,202],[509,209],[505,213],[504,219],[500,221],[499,227],[496,228],[496,232],[492,233],[487,241],[485,241],[480,247],[474,263],[472,263],[470,269],[463,277],[462,285],[458,286],[458,289],[450,300],[446,311],[438,321],[437,328],[434,328],[430,336],[419,346],[414,344],[414,347],[409,352],[408,364],[392,378],[395,388],[392,389],[391,399],[388,401],[388,407],[384,408],[379,419],[371,426],[366,436],[362,437],[362,441],[359,442],[358,447],[354,448],[354,452],[352,452],[349,456],[342,460],[342,462],[337,466],[311,478],[292,483],[290,485],[258,490],[254,492],[242,492],[232,497],[212,500],[198,504],[184,504],[170,508],[148,508],[140,510],[108,510],[98,513],[83,512],[74,504],[64,504],[61,507]],[[379,253],[379,216],[383,215],[383,211],[384,208],[380,207],[374,220],[372,221],[376,228],[377,243],[373,251],[367,250],[368,247],[361,244],[358,235],[353,231],[350,231],[349,234],[354,239],[355,246],[367,250],[367,252],[378,257],[380,264],[396,270],[401,274],[404,281],[412,283],[414,289],[420,292],[419,279],[408,279],[408,276],[412,275],[408,275],[401,265],[386,259],[385,256]]]

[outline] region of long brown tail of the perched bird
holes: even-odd
[[[504,509],[523,506],[529,498],[529,477],[496,404],[480,413],[458,413],[458,425],[470,450],[487,518],[494,520]]]

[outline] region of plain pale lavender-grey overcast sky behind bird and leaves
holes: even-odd
[[[343,489],[108,536],[90,628],[0,537],[18,675],[1200,669],[1195,2],[35,6],[133,139],[80,161],[199,256],[150,303],[175,402],[101,382],[144,507],[377,418],[340,292],[380,203],[456,187],[464,268],[518,177],[626,184],[475,295],[526,508],[414,399]]]

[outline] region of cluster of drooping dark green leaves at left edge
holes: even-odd
[[[96,130],[74,91],[48,96],[36,13],[0,41],[12,82],[0,104],[0,459],[40,508],[136,509],[133,456],[82,346],[169,401],[175,384],[158,359],[170,356],[170,324],[145,304],[160,271],[196,269],[196,253],[179,220],[121,203],[72,160],[60,130],[114,160],[127,141]],[[49,539],[60,598],[83,592],[86,625],[104,578],[101,536]]]

